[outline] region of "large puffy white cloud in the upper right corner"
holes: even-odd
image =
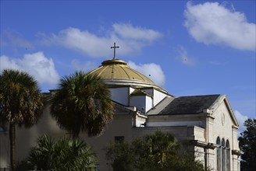
[[[198,42],[255,51],[256,25],[248,23],[243,12],[228,9],[218,2],[198,5],[187,2],[184,16],[184,25]]]

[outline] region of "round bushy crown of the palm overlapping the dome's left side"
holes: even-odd
[[[98,76],[75,72],[60,80],[51,113],[59,127],[78,138],[80,131],[88,136],[100,134],[112,120],[114,107],[109,89]]]

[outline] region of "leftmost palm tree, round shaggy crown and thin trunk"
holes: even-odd
[[[37,82],[27,73],[4,70],[0,75],[0,119],[9,122],[10,162],[16,168],[16,124],[31,127],[37,123],[43,102]]]

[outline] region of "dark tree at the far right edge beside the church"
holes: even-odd
[[[252,171],[256,169],[256,119],[244,121],[246,130],[238,138],[239,146],[244,154],[241,156],[241,170]]]

